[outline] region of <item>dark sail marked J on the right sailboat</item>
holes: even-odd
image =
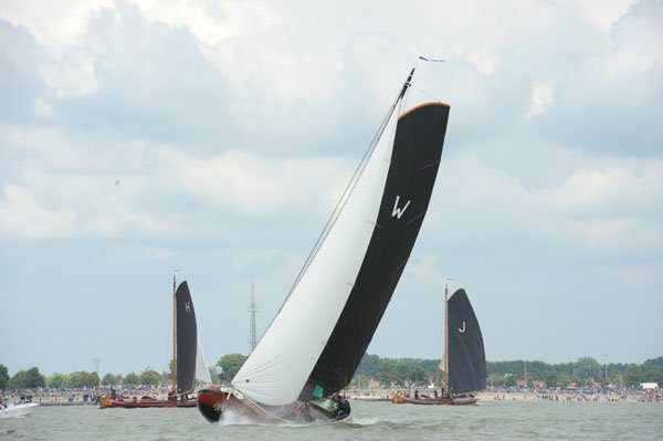
[[[449,391],[465,393],[486,388],[486,355],[474,309],[464,290],[449,297],[446,345]]]

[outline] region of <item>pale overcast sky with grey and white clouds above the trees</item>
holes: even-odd
[[[166,368],[176,269],[248,353],[419,54],[450,123],[369,353],[439,357],[454,277],[490,360],[663,355],[661,1],[183,3],[0,3],[11,374]]]

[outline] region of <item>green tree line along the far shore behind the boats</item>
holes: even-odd
[[[242,354],[227,354],[219,358],[215,369],[210,369],[212,380],[229,382],[246,360]],[[638,386],[641,382],[654,381],[663,385],[663,357],[652,358],[643,364],[611,363],[601,365],[591,357],[580,357],[576,361],[548,364],[544,361],[512,360],[487,361],[486,381],[490,386],[516,386],[518,380],[543,381],[551,387],[567,387],[571,384],[585,385],[625,385]],[[97,372],[76,371],[72,374],[55,372],[50,377],[42,375],[33,367],[19,370],[10,377],[6,366],[0,365],[0,390],[35,389],[50,387],[93,388],[102,386],[158,386],[171,381],[168,371],[157,372],[146,368],[140,374],[106,374],[99,378]],[[409,387],[411,385],[440,385],[442,371],[440,360],[423,358],[381,358],[366,354],[352,379],[354,386],[368,386],[370,380],[382,385]]]

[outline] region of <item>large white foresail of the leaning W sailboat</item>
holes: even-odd
[[[295,400],[352,290],[368,249],[387,181],[398,123],[382,135],[326,240],[232,385],[254,401]]]

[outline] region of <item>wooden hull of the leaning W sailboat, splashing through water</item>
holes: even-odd
[[[338,418],[299,401],[286,406],[263,407],[214,386],[198,392],[198,410],[209,422],[219,422],[229,413],[233,419],[256,424],[324,423],[349,418],[349,416]]]

